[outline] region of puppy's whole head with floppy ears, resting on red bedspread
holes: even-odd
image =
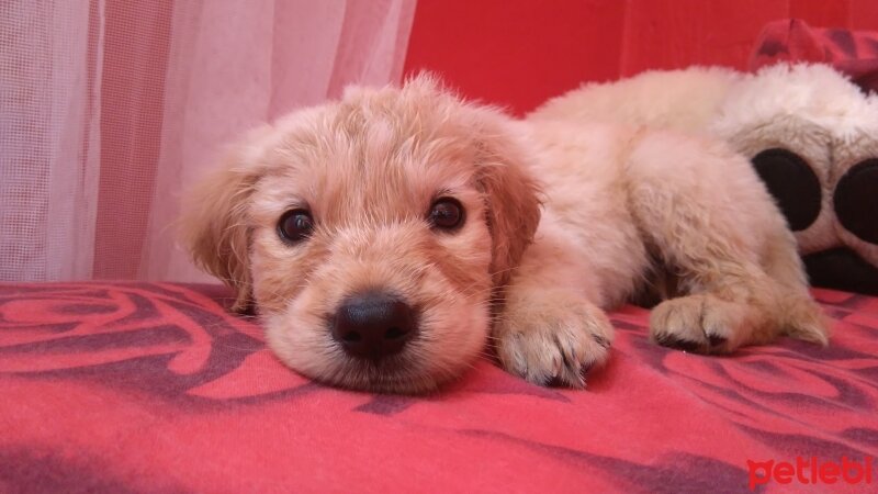
[[[539,223],[516,123],[428,76],[255,131],[189,197],[194,259],[317,380],[418,392],[484,347]]]

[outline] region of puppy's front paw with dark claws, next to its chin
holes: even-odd
[[[497,356],[510,373],[539,385],[585,388],[588,371],[609,356],[612,327],[597,310],[543,314],[529,325],[507,324]]]

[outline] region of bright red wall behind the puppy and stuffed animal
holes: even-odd
[[[790,16],[878,30],[878,0],[418,0],[405,70],[521,113],[585,80],[743,69],[762,26]]]

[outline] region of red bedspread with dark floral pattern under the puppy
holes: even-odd
[[[878,299],[815,291],[836,321],[830,348],[785,339],[728,358],[654,346],[646,311],[626,307],[588,391],[481,361],[439,394],[407,397],[293,373],[257,324],[223,311],[224,294],[0,285],[0,491],[878,486]]]

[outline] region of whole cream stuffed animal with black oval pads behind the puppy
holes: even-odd
[[[728,142],[775,197],[811,282],[878,294],[878,96],[833,67],[651,71],[586,85],[528,117],[610,121]]]

